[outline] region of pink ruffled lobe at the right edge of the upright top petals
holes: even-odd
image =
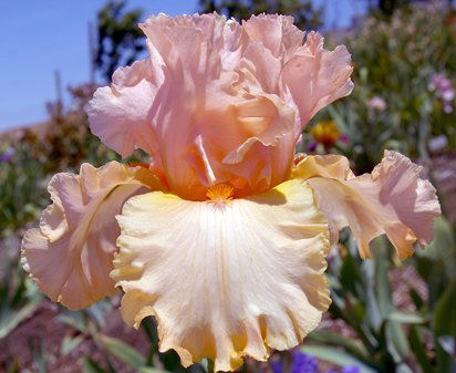
[[[323,37],[312,31],[305,43],[287,62],[282,79],[288,99],[298,107],[296,135],[324,106],[349,95],[353,90],[351,56],[344,45],[330,52]]]

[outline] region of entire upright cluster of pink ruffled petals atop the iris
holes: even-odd
[[[303,43],[290,17],[159,14],[139,27],[151,58],[97,91],[91,127],[123,156],[147,151],[186,199],[218,183],[237,196],[282,183],[305,122],[351,92],[346,50],[325,51],[313,32]]]

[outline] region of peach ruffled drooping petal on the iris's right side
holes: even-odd
[[[385,234],[406,259],[415,242],[433,240],[433,221],[441,214],[434,187],[422,179],[421,166],[386,151],[371,174],[355,177],[342,156],[308,156],[293,176],[313,187],[319,207],[336,232],[350,227],[362,258],[370,258],[369,244]]]

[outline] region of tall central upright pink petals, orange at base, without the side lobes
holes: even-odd
[[[279,95],[280,61],[216,14],[159,14],[141,28],[165,72],[155,128],[170,189],[203,200],[217,183],[235,180],[246,195],[283,182],[289,163],[271,159],[292,157],[294,144],[280,139],[293,131],[294,111]]]

